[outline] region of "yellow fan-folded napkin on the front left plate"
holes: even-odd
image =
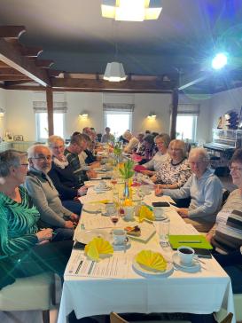
[[[89,256],[91,260],[98,261],[100,257],[113,255],[113,247],[111,244],[103,238],[93,238],[85,246],[85,254]]]

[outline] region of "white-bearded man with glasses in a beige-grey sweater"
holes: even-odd
[[[29,170],[25,186],[40,212],[40,227],[51,227],[55,232],[53,240],[71,240],[78,216],[62,206],[59,193],[47,175],[51,170],[50,149],[31,146],[27,154]]]

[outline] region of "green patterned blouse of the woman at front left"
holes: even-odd
[[[0,259],[32,248],[38,242],[35,232],[40,215],[27,190],[20,186],[21,202],[0,192]]]

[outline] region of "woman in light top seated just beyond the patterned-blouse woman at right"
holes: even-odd
[[[143,164],[147,170],[143,170],[142,173],[149,176],[154,175],[155,171],[160,169],[160,164],[168,160],[170,137],[167,133],[161,133],[154,138],[154,142],[158,148],[158,152],[153,156],[150,162],[145,162]]]

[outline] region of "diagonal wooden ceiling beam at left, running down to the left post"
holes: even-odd
[[[43,86],[51,86],[51,80],[46,71],[35,67],[33,61],[29,61],[26,57],[20,55],[11,43],[0,38],[0,60],[12,68],[15,68],[20,73],[40,83]]]

